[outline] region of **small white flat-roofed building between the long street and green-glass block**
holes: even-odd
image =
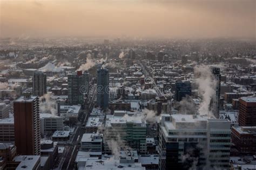
[[[81,139],[81,150],[90,152],[102,152],[102,134],[84,133]]]

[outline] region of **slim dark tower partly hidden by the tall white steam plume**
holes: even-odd
[[[216,83],[216,94],[211,100],[211,107],[212,107],[212,112],[213,115],[216,118],[219,118],[219,109],[220,109],[220,68],[218,67],[213,67],[212,68],[212,74],[215,77],[215,80],[217,81]]]

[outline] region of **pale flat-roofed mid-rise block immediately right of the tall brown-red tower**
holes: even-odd
[[[41,133],[52,134],[57,130],[63,130],[63,118],[52,114],[40,114]]]

